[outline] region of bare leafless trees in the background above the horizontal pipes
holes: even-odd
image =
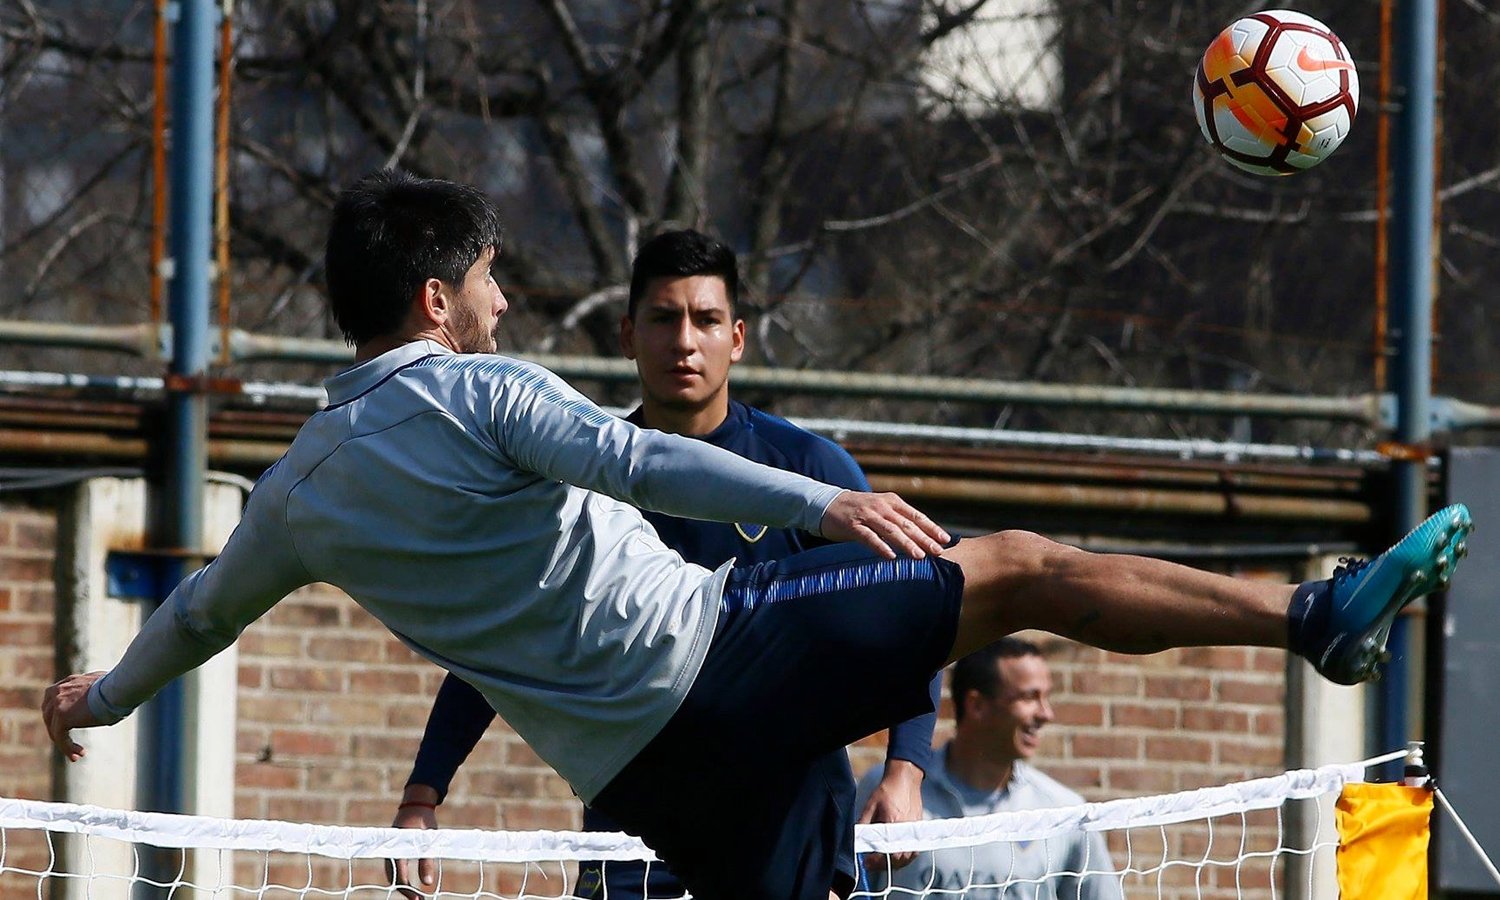
[[[146,315],[153,6],[0,2],[3,315]],[[1214,158],[1190,104],[1198,54],[1240,12],[1119,0],[240,0],[232,315],[250,330],[332,336],[316,291],[333,196],[400,165],[501,202],[514,350],[612,354],[634,246],[682,224],[741,250],[753,354],[770,364],[1371,390],[1376,16],[1352,0],[1310,9],[1353,50],[1364,112],[1334,160],[1270,180]],[[1500,246],[1488,216],[1500,165],[1492,141],[1456,123],[1494,118],[1485,48],[1500,26],[1456,4],[1446,27],[1466,40],[1446,81],[1455,124],[1440,285],[1455,327],[1440,370],[1454,393],[1486,399],[1496,384],[1472,375],[1494,344],[1482,300]],[[838,410],[1126,434],[1236,428]],[[1305,426],[1254,436],[1360,440]]]

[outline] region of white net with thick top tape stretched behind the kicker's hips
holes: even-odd
[[[1296,861],[1334,846],[1330,798],[1360,780],[1366,765],[1065,808],[861,826],[856,849],[876,864],[855,896],[1310,896],[1311,867]],[[890,884],[882,855],[914,850],[918,861]],[[6,900],[396,897],[392,858],[436,860],[438,880],[424,896],[452,900],[588,897],[579,888],[580,861],[654,861],[622,834],[352,828],[0,798]]]

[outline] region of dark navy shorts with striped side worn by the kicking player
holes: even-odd
[[[854,886],[844,746],[922,712],[963,572],[832,544],[735,567],[704,668],[594,807],[699,900],[826,900]]]

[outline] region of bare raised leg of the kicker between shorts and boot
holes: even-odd
[[[966,538],[944,558],[964,578],[950,662],[1023,628],[1116,652],[1287,645],[1294,585],[1089,554],[1026,531]]]

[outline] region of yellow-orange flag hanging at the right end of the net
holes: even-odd
[[[1426,900],[1432,792],[1352,783],[1336,808],[1341,900]]]

